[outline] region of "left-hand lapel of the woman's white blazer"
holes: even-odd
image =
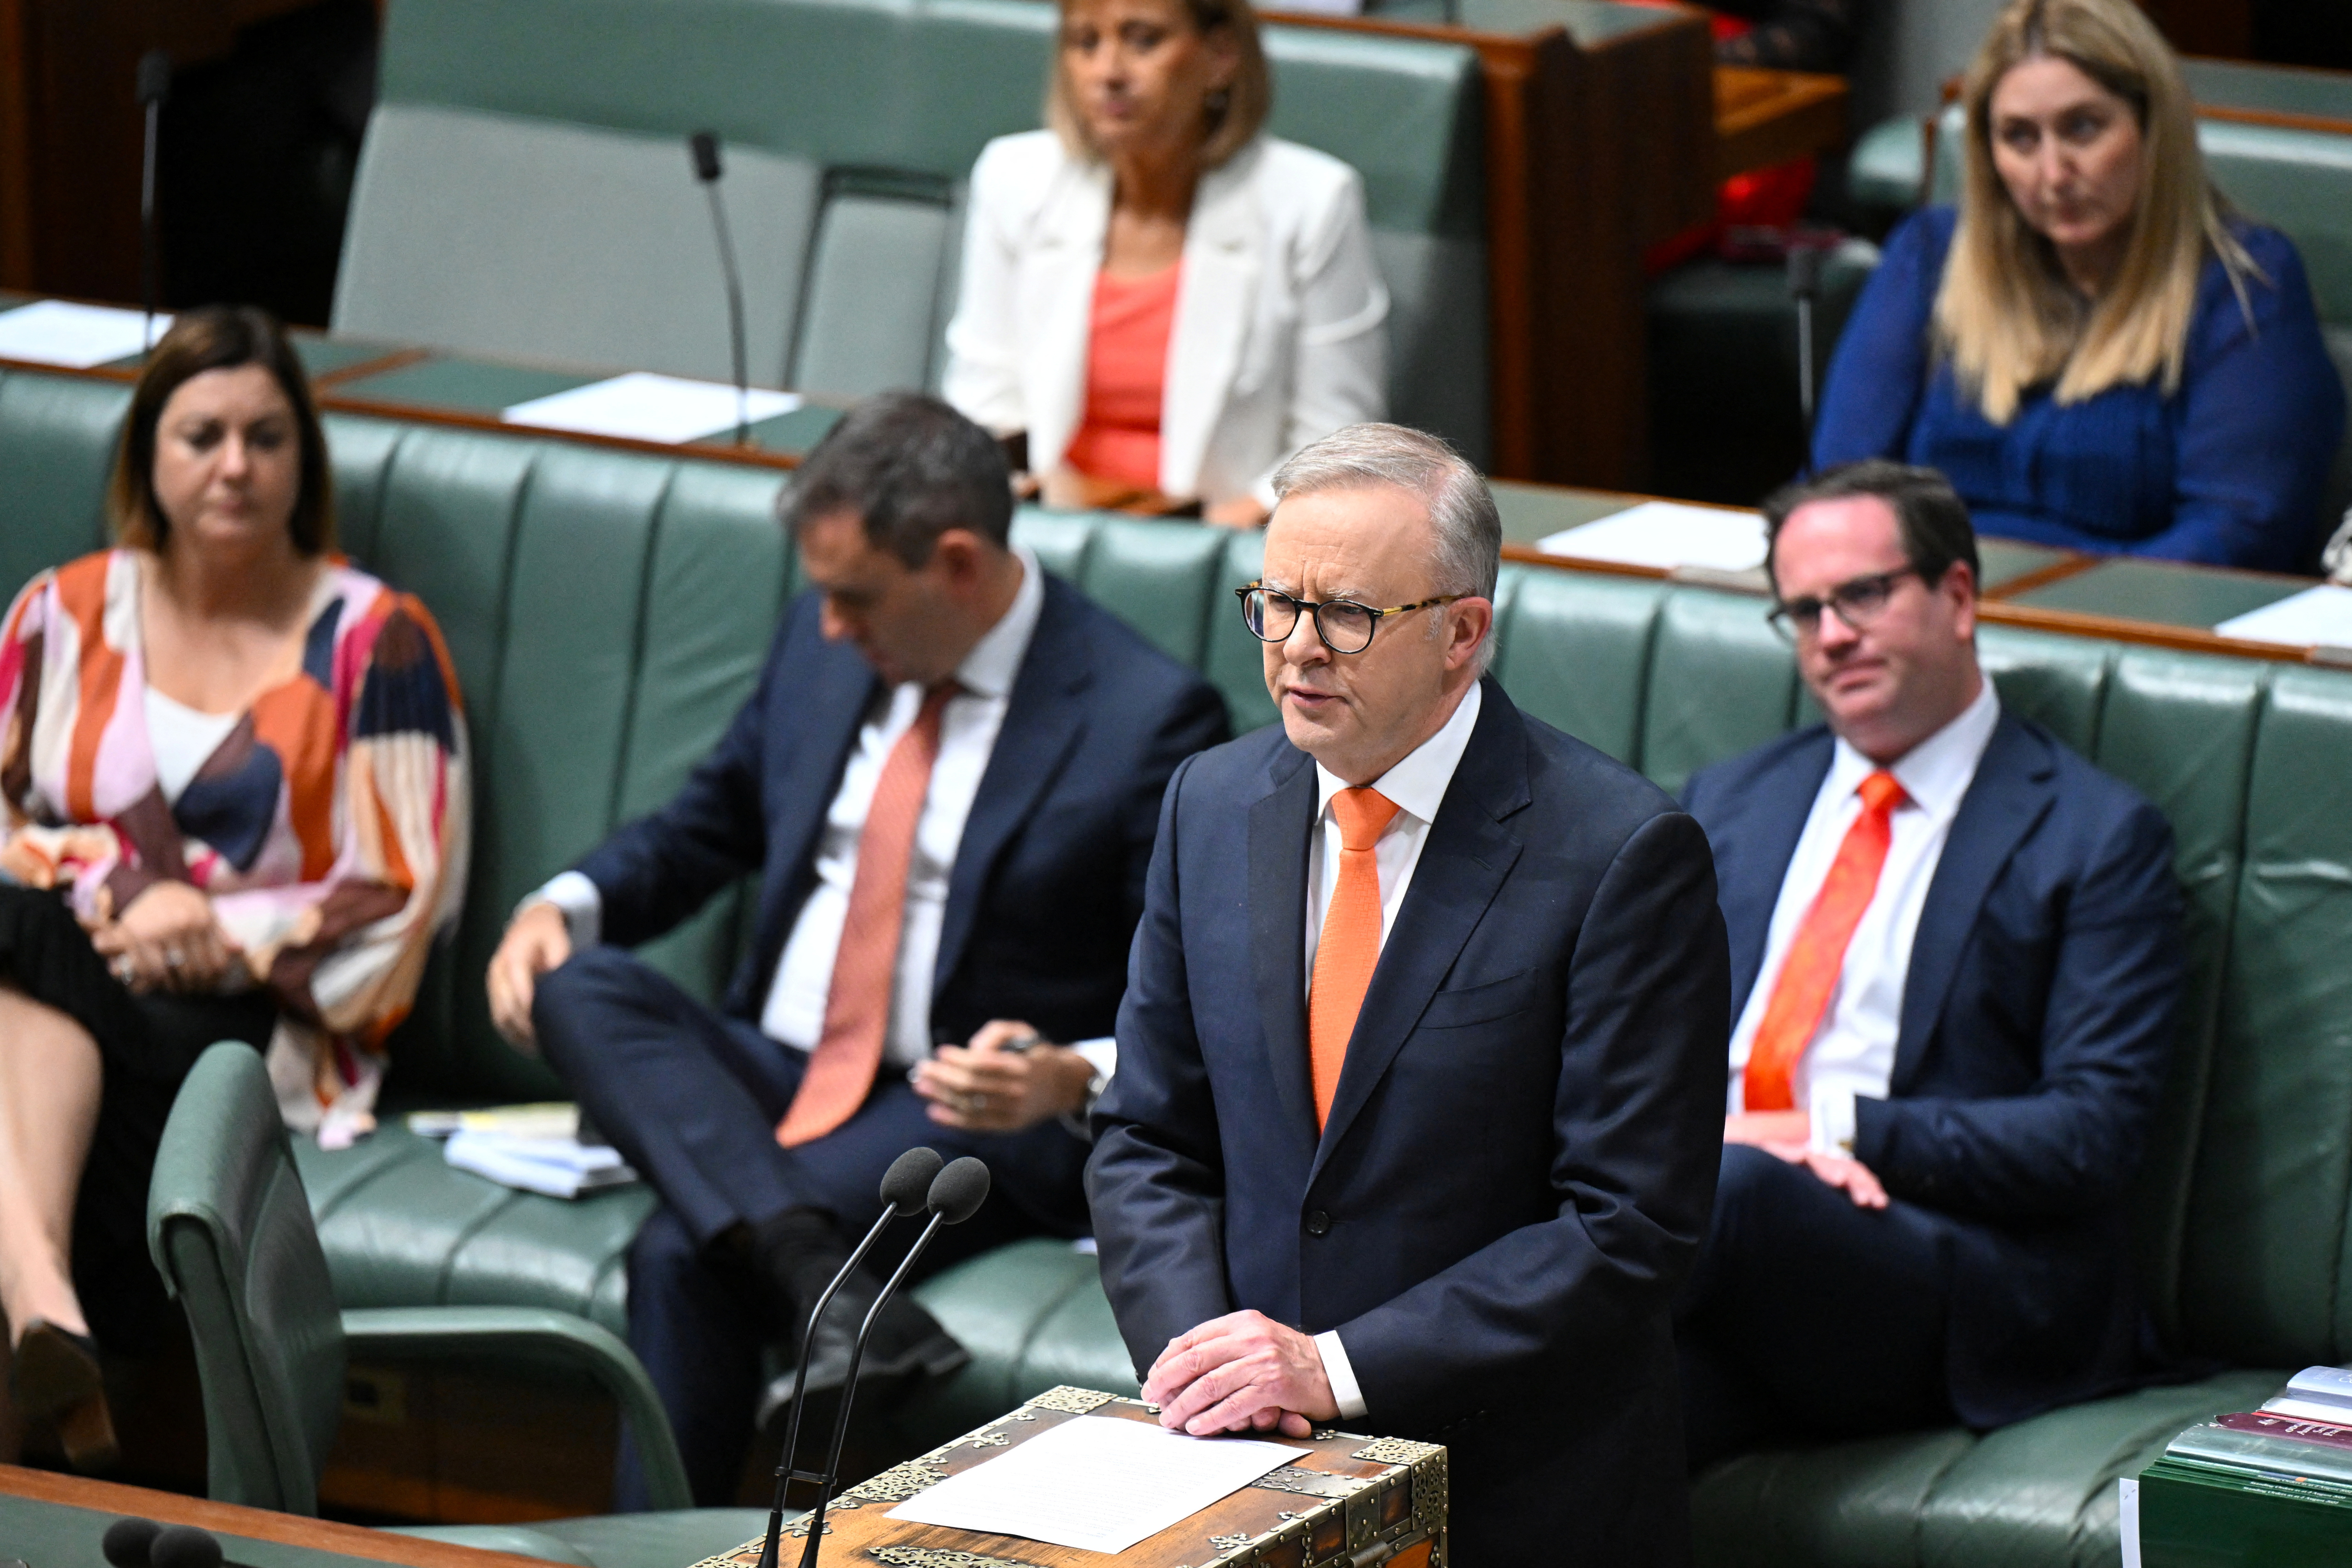
[[[1087,414],[1087,331],[1108,233],[1110,169],[1065,160],[1037,212],[1037,242],[1021,259],[1021,324],[1028,336],[1021,386],[1033,473],[1061,463]]]

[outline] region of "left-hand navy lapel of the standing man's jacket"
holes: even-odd
[[[1287,769],[1287,771],[1284,771]],[[1315,832],[1315,766],[1287,752],[1272,790],[1249,809],[1249,950],[1258,983],[1268,1074],[1284,1119],[1315,1143],[1315,1077],[1308,1070],[1308,835]]]

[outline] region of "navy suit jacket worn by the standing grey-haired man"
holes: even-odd
[[[1364,1429],[1454,1448],[1458,1563],[1682,1561],[1670,1295],[1729,1030],[1705,837],[1489,679],[1317,1135],[1312,825],[1279,726],[1169,785],[1087,1168],[1136,1366],[1244,1307],[1338,1328]]]

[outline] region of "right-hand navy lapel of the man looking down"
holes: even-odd
[[[1070,599],[1075,595],[1068,588],[1054,578],[1044,581],[1044,609],[1037,630],[1030,632],[1028,654],[1021,656],[1021,672],[1014,675],[1004,724],[988,752],[981,788],[971,797],[971,816],[964,818],[964,837],[955,846],[955,870],[948,872],[948,907],[938,929],[938,961],[931,969],[934,997],[964,957],[997,856],[1087,731],[1080,691],[1094,682],[1094,661],[1087,658],[1080,607]]]

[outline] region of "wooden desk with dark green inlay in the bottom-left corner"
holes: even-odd
[[[122,1516],[212,1530],[221,1537],[226,1556],[245,1568],[334,1568],[353,1561],[402,1568],[546,1568],[536,1556],[477,1552],[325,1519],[0,1465],[0,1554],[24,1559],[28,1568],[106,1568],[99,1542],[106,1526]]]

